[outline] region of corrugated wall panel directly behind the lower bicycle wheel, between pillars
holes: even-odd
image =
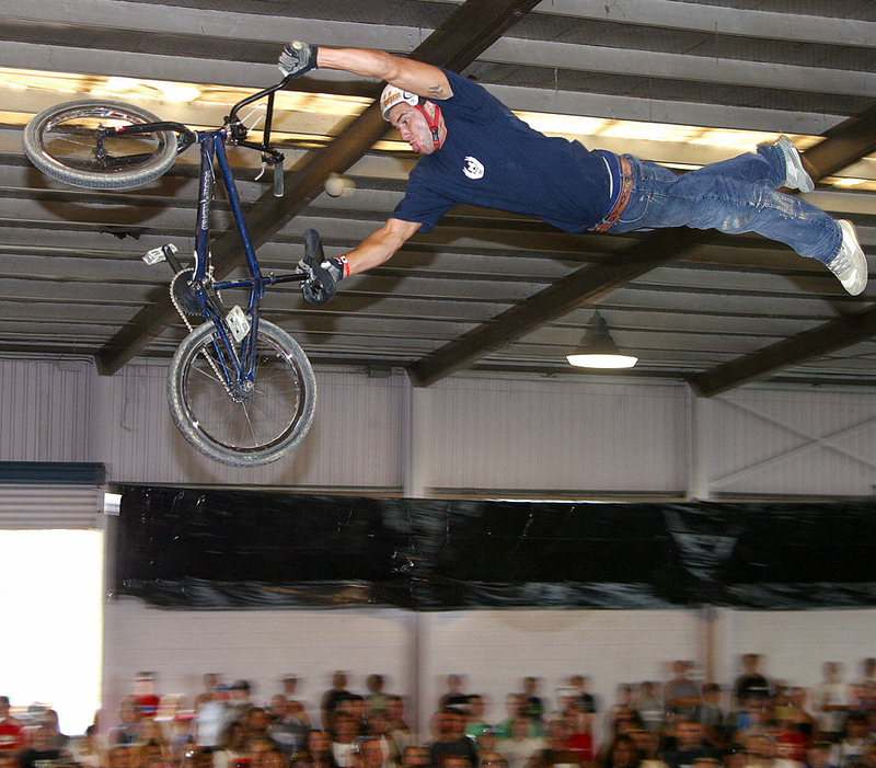
[[[399,489],[406,380],[318,372],[316,417],[286,459],[258,468],[210,461],[183,439],[168,410],[166,369],[129,365],[100,381],[108,477],[125,482]]]

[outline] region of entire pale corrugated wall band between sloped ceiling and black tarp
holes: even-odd
[[[0,460],[103,461],[116,482],[353,493],[817,497],[876,484],[868,391],[749,387],[704,401],[679,383],[469,377],[412,390],[401,372],[322,370],[299,449],[232,469],[177,434],[165,371],[0,362]]]

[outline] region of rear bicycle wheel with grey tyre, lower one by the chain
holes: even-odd
[[[316,379],[303,349],[284,330],[258,323],[254,388],[233,398],[219,375],[212,322],[180,344],[168,375],[168,400],[183,436],[216,461],[254,467],[276,461],[308,433]]]

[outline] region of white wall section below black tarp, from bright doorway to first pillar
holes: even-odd
[[[319,722],[319,700],[336,669],[350,670],[358,690],[376,672],[394,690],[411,690],[415,624],[414,614],[399,609],[180,611],[114,599],[104,610],[106,718],[115,723],[136,673],[150,670],[162,695],[182,695],[189,707],[206,673],[250,680],[262,702],[295,674]]]

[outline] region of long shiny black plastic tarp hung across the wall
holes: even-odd
[[[876,502],[590,504],[122,488],[116,589],[180,608],[876,605]]]

